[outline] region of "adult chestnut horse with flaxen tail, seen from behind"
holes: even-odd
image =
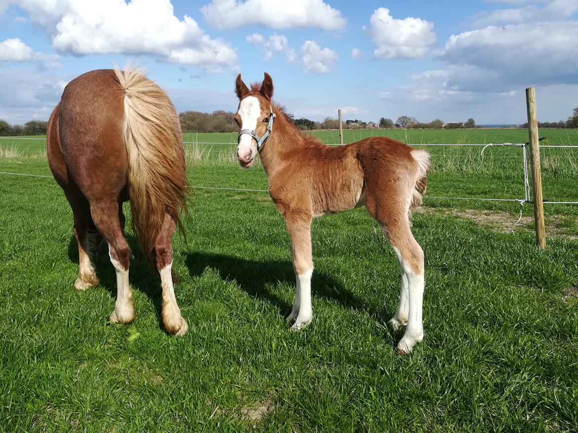
[[[46,141],[50,169],[74,215],[79,252],[75,289],[99,283],[92,253],[104,238],[117,282],[109,320],[135,319],[122,207],[130,199],[139,245],[160,273],[165,329],[184,335],[188,325],[173,288],[171,238],[177,224],[182,228],[187,180],[171,100],[140,69],[93,70],[66,85],[50,116]]]

